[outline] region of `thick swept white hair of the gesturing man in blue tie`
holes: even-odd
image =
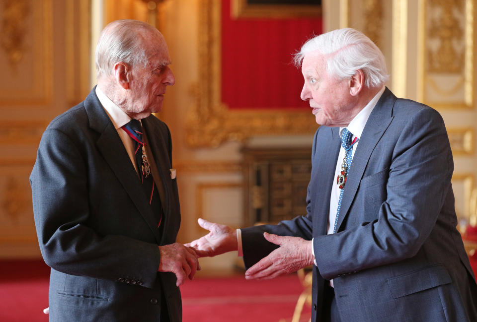
[[[328,74],[339,79],[353,76],[358,69],[363,71],[368,88],[381,87],[389,78],[381,50],[355,29],[336,29],[309,39],[295,54],[297,67],[306,54],[315,51],[325,57]]]

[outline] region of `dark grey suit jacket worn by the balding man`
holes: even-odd
[[[181,321],[176,277],[158,273],[158,245],[174,243],[180,225],[170,133],[154,116],[142,122],[163,185],[162,233],[94,89],[43,133],[30,183],[50,321],[159,321],[164,295],[170,321]]]

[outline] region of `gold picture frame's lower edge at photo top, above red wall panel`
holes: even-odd
[[[247,0],[233,0],[234,18],[290,18],[321,15],[321,6],[304,4],[249,4]]]

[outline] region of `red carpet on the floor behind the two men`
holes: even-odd
[[[0,322],[47,322],[49,267],[0,261]],[[268,281],[196,278],[181,286],[183,322],[290,322],[302,291],[296,275]],[[302,321],[310,319],[305,307]]]

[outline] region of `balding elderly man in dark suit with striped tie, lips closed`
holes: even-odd
[[[30,182],[50,321],[181,321],[178,286],[198,269],[180,224],[171,137],[151,113],[175,83],[147,23],[107,25],[98,84],[45,130]]]

